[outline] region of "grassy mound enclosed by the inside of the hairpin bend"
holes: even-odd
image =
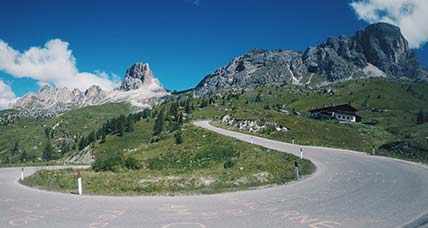
[[[314,169],[307,160],[220,136],[190,123],[179,130],[182,142],[177,142],[177,130],[168,126],[154,142],[154,122],[153,118],[137,121],[132,132],[108,135],[105,142],[93,145],[97,157],[94,168],[81,171],[86,193],[216,193],[294,180],[295,161],[302,174]],[[40,171],[25,183],[73,191],[74,173]]]

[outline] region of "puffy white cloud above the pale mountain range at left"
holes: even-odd
[[[117,81],[104,72],[79,72],[69,44],[59,39],[48,41],[43,47],[31,47],[19,52],[0,40],[0,70],[17,78],[29,77],[39,85],[85,90],[99,85],[112,90]]]

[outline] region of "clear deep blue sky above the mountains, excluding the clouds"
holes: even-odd
[[[123,76],[149,62],[162,84],[195,86],[204,75],[252,48],[304,50],[367,23],[345,0],[16,0],[2,2],[0,39],[25,51],[68,42],[81,72]],[[428,65],[426,45],[419,49]],[[17,96],[39,85],[0,72]]]

